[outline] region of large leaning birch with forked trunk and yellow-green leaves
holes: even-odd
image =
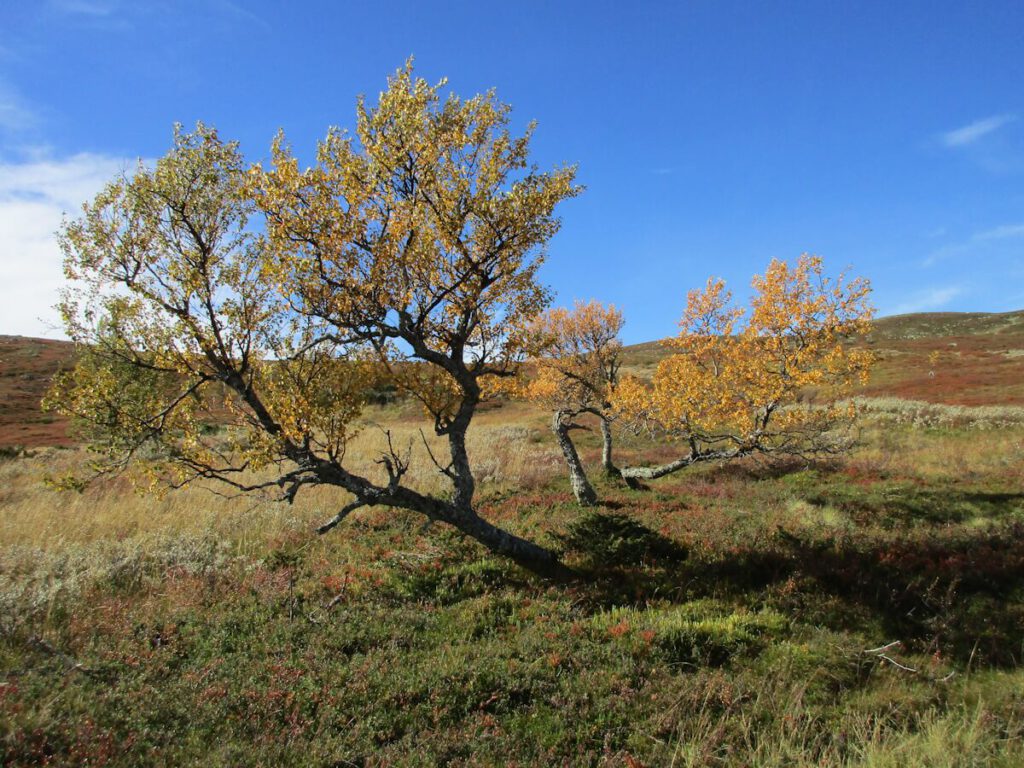
[[[572,168],[529,164],[532,126],[513,136],[494,92],[442,99],[442,86],[407,65],[376,105],[359,100],[354,137],[332,129],[306,169],[283,136],[268,169],[247,168],[212,128],[177,129],[154,169],[63,227],[62,312],[84,356],[50,400],[85,426],[94,470],[287,498],[335,485],[351,501],[325,528],[399,507],[530,567],[555,562],[476,514],[466,431],[549,302],[537,270],[580,187]],[[449,496],[403,484],[412,449],[390,440],[382,476],[346,468],[381,366],[446,438]],[[133,463],[143,450],[156,461]]]

